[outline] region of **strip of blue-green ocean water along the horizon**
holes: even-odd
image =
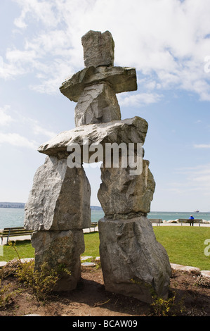
[[[151,211],[147,218],[162,218],[162,220],[176,220],[178,218],[189,218],[193,215],[194,218],[199,218],[202,220],[210,220],[209,213],[195,213],[193,211],[189,212],[155,212]],[[21,227],[24,224],[25,211],[23,208],[0,208],[0,229],[4,227]],[[103,218],[104,213],[102,210],[92,210],[91,211],[91,221],[98,222],[100,218]]]

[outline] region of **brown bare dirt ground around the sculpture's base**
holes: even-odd
[[[197,284],[196,284],[197,283]],[[46,302],[38,302],[30,289],[21,287],[15,277],[1,281],[20,289],[7,308],[1,308],[0,316],[162,316],[155,305],[145,304],[119,294],[105,291],[101,269],[82,267],[81,280],[71,292],[51,294]],[[172,270],[170,296],[175,297],[169,315],[210,316],[209,280],[195,273]],[[166,308],[163,308],[166,313]]]

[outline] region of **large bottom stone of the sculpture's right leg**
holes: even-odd
[[[146,217],[99,220],[100,263],[105,289],[150,303],[168,296],[171,267]]]

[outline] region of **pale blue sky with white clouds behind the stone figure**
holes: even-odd
[[[209,0],[1,0],[0,201],[27,201],[37,147],[74,127],[59,87],[84,68],[81,37],[109,30],[114,65],[137,71],[138,90],[117,99],[122,119],[149,124],[151,210],[210,211],[209,20]],[[86,173],[99,205],[100,169]]]

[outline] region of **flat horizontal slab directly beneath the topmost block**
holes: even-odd
[[[60,92],[71,101],[77,102],[88,85],[107,82],[114,93],[136,91],[136,69],[122,67],[88,67],[67,78],[60,86]]]

